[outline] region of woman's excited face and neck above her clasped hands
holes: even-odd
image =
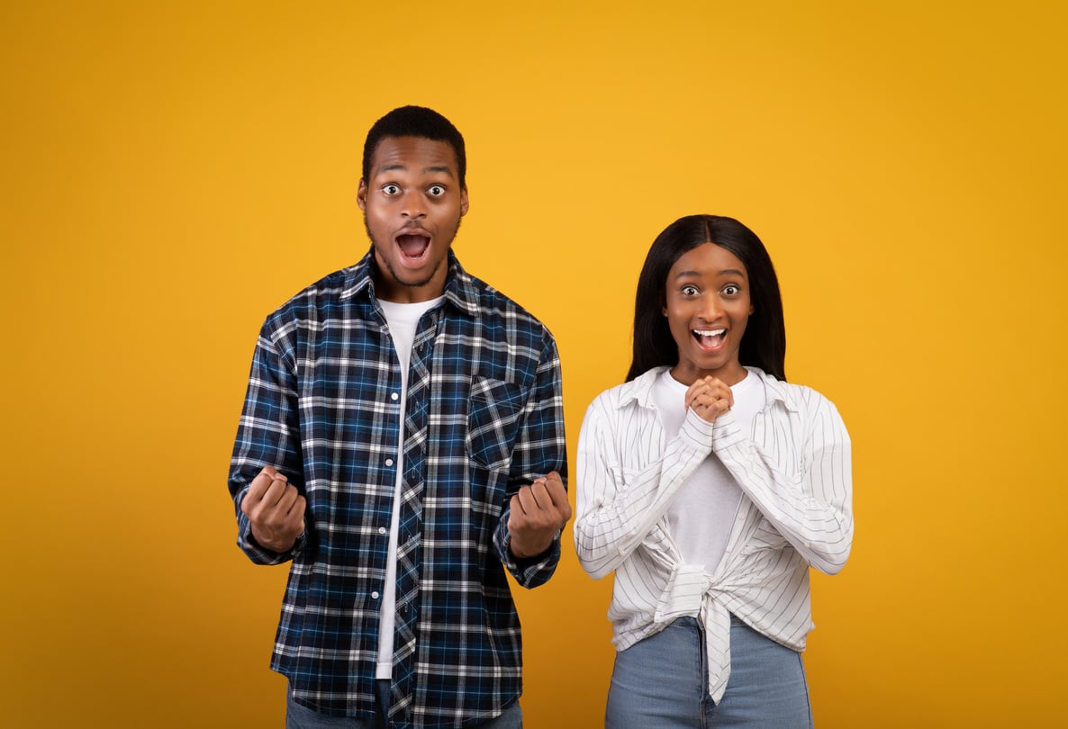
[[[668,272],[663,314],[678,346],[672,376],[693,384],[711,375],[733,385],[745,378],[738,348],[753,313],[749,274],[738,257],[708,242],[688,251]]]

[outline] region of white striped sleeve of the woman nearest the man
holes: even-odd
[[[590,406],[579,432],[575,549],[583,569],[598,580],[646,539],[669,539],[660,520],[711,451],[712,425],[693,410],[662,456],[660,444],[643,432],[647,429],[630,423],[641,415],[637,408],[611,407],[606,393]],[[627,469],[624,462],[647,465]]]

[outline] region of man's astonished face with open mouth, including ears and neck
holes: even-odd
[[[375,252],[378,298],[411,303],[441,296],[449,248],[468,211],[447,142],[384,137],[357,201]]]

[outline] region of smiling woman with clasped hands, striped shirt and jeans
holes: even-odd
[[[606,726],[811,727],[808,568],[853,533],[849,435],[787,384],[779,281],[732,218],[664,229],[638,282],[627,381],[579,435],[575,544],[615,572]]]

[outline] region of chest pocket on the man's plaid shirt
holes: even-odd
[[[527,392],[514,382],[476,378],[468,410],[468,457],[490,470],[506,470],[512,461]]]

